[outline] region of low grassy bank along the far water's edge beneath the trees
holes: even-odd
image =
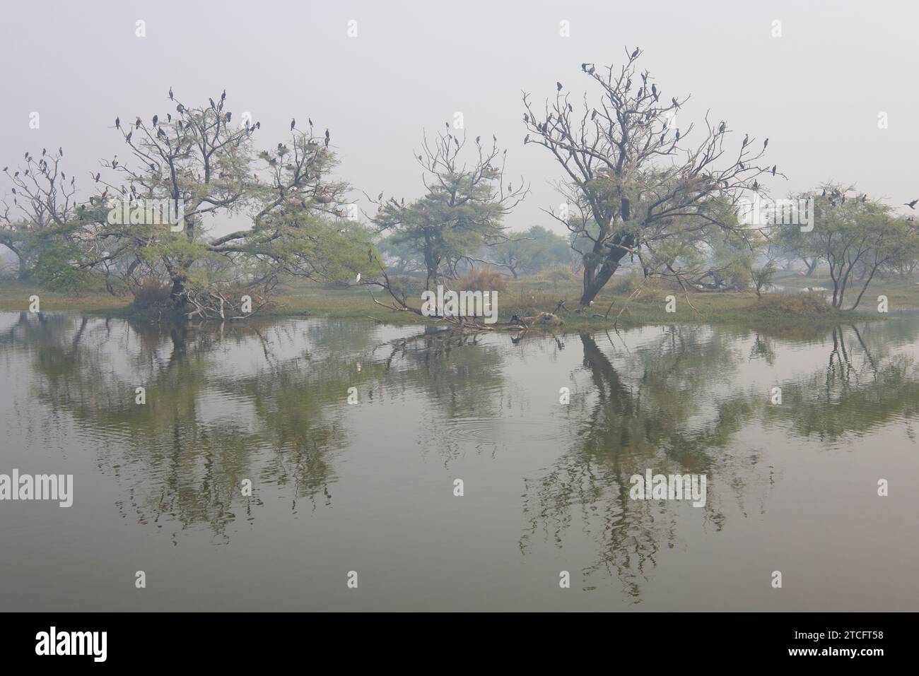
[[[497,295],[499,322],[510,320],[512,315],[528,316],[541,311],[553,311],[560,300],[565,310],[559,314],[568,328],[608,327],[613,321],[618,326],[640,324],[665,324],[686,322],[737,322],[746,325],[833,323],[859,318],[879,318],[877,298],[888,297],[890,314],[919,309],[919,286],[912,282],[876,281],[862,299],[857,313],[837,312],[823,302],[819,293],[802,293],[805,287],[831,287],[829,279],[815,276],[785,276],[777,279],[781,289],[764,294],[758,299],[753,292],[692,293],[688,296],[672,288],[645,284],[634,278],[614,280],[595,300],[580,312],[577,300],[580,285],[576,279],[550,279],[528,277],[509,282]],[[376,287],[330,288],[315,284],[296,284],[284,287],[278,295],[278,304],[272,310],[277,316],[296,317],[372,317],[392,323],[417,323],[419,318],[410,312],[393,312],[373,302],[370,293],[387,302],[388,296]],[[29,296],[40,297],[42,311],[65,311],[99,315],[134,313],[130,296],[115,297],[104,289],[67,296],[17,281],[0,282],[0,310],[28,310]],[[668,296],[673,296],[673,312],[667,311]],[[847,294],[850,305],[857,291]],[[631,299],[630,299],[631,297]],[[411,298],[411,297],[410,297]],[[628,300],[628,303],[627,303]],[[415,299],[420,307],[420,299]],[[610,307],[611,306],[611,307]]]

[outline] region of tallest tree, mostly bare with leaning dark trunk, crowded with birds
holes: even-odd
[[[626,255],[646,273],[681,281],[680,257],[704,247],[714,231],[749,235],[732,208],[744,194],[762,191],[758,178],[775,175],[764,161],[765,141],[732,136],[725,121],[705,117],[705,129],[679,127],[688,97],[665,93],[648,71],[641,50],[626,51],[623,65],[581,69],[596,99],[574,99],[562,83],[542,109],[523,96],[525,143],[546,148],[562,166],[558,184],[567,205],[548,213],[584,244],[584,292],[589,304]],[[695,141],[694,141],[695,139]]]

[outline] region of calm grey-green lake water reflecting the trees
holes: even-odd
[[[915,317],[516,341],[0,313],[0,473],[74,475],[69,509],[0,501],[0,607],[916,611],[917,358]],[[705,475],[705,506],[630,499],[647,469]]]

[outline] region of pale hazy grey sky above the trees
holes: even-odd
[[[165,117],[170,86],[193,104],[226,88],[227,110],[261,121],[258,145],[287,141],[290,118],[309,116],[331,130],[356,196],[408,200],[423,192],[422,131],[461,111],[471,137],[509,148],[508,180],[532,186],[508,225],[562,231],[540,211],[559,203],[549,182],[561,169],[523,145],[521,90],[541,101],[558,80],[579,99],[581,62],[619,63],[640,46],[666,99],[692,95],[680,126],[710,108],[738,143],[769,137],[770,163],[789,175],[774,195],[833,179],[899,205],[919,197],[917,27],[919,4],[904,1],[5,3],[0,163],[62,145],[64,170],[88,190],[100,158],[128,157],[116,116]]]

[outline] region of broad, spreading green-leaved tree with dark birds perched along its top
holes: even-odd
[[[106,175],[93,175],[88,204],[65,201],[40,229],[40,281],[64,289],[101,278],[109,290],[120,283],[133,291],[160,280],[169,287],[163,309],[228,319],[267,305],[290,276],[342,282],[369,273],[370,234],[348,218],[349,186],[331,178],[328,130],[314,134],[312,123],[302,131],[291,122],[287,143],[256,152],[261,124],[233,120],[225,92],[200,107],[171,90],[169,98],[176,112],[165,119],[116,120],[130,161],[104,161]],[[45,188],[33,201],[48,204],[53,195]],[[158,210],[163,205],[168,213]],[[243,228],[210,234],[239,221]]]

